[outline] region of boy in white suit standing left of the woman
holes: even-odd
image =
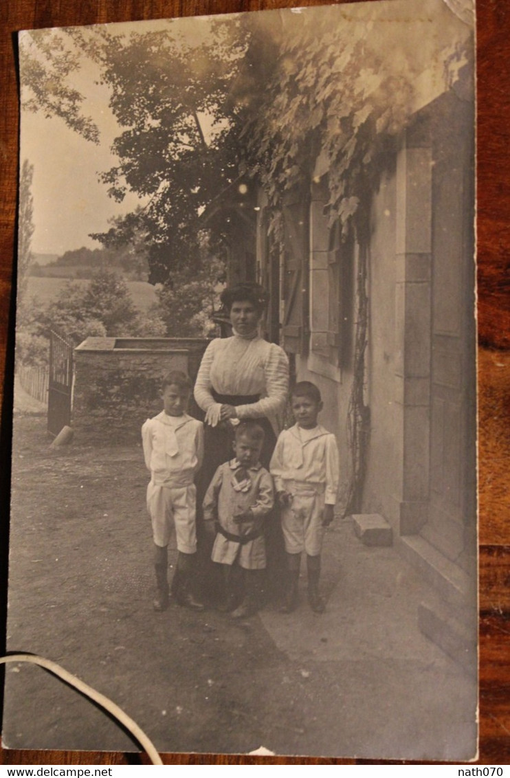
[[[168,542],[175,529],[178,548],[177,569],[172,592],[179,605],[202,610],[192,594],[196,559],[196,489],[193,478],[204,454],[203,425],[188,416],[192,382],[180,370],[171,370],[161,385],[163,411],[142,426],[143,454],[150,471],[147,510],[153,527],[154,567],[157,596],[155,611],[168,605]]]

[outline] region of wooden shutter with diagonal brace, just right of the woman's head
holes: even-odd
[[[283,205],[283,348],[308,349],[308,197],[302,191]]]

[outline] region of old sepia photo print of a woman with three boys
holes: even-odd
[[[476,758],[473,26],[19,33],[8,650],[160,752]],[[6,747],[138,749],[5,675]]]

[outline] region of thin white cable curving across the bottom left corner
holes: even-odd
[[[79,678],[76,678],[76,675],[72,675],[72,673],[62,668],[60,664],[52,662],[51,659],[37,657],[35,654],[10,654],[9,657],[0,657],[0,664],[7,664],[7,662],[29,662],[30,664],[38,664],[39,667],[46,668],[55,675],[58,675],[58,678],[62,678],[62,681],[69,683],[69,685],[78,689],[78,691],[82,692],[86,697],[93,699],[95,703],[98,703],[107,710],[108,713],[111,713],[114,718],[120,721],[146,751],[146,754],[153,765],[163,764],[153,742],[127,713],[119,708],[118,705],[112,703],[111,699],[105,697],[104,694],[97,692],[92,686],[89,686],[86,683],[83,683],[83,681],[80,681]]]

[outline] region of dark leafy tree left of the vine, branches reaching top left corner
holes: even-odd
[[[243,44],[232,22],[204,22],[198,37],[182,37],[172,21],[160,32],[129,37],[104,28],[55,30],[55,55],[47,30],[21,41],[23,104],[30,110],[53,111],[96,141],[91,121],[78,121],[83,96],[72,89],[73,68],[93,61],[111,89],[121,128],[112,149],[119,163],[102,179],[119,202],[128,190],[149,199],[114,230],[119,242],[133,226],[149,235],[151,282],[166,283],[179,268],[198,269],[199,213],[237,174],[231,142],[237,108],[227,97]],[[111,230],[94,237],[111,244]]]

